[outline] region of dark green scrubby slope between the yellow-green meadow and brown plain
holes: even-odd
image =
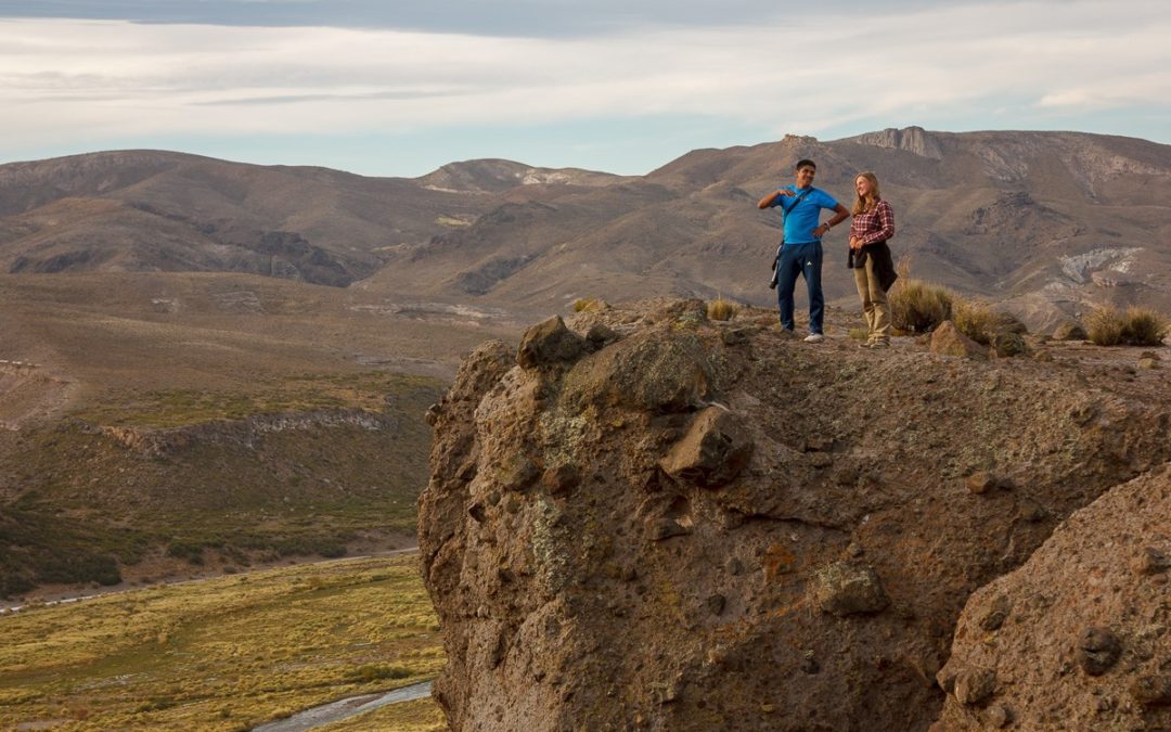
[[[0,504],[0,595],[50,582],[102,584],[151,550],[191,567],[282,556],[337,557],[359,534],[409,533],[415,499],[426,485],[434,379],[385,372],[300,375],[251,392],[152,392],[108,397],[84,406],[84,419],[27,430],[19,463],[6,467],[22,492]],[[213,398],[214,397],[214,398]],[[208,426],[179,433],[174,449],[145,454],[94,424],[156,427],[246,416],[278,398],[302,408],[334,399],[357,413],[378,413],[377,430],[351,424],[253,430]],[[235,409],[235,408],[233,408]],[[304,412],[293,415],[297,419]],[[283,417],[282,417],[283,418]],[[93,422],[90,422],[93,420]],[[146,425],[146,426],[141,426]],[[128,502],[125,497],[133,495]]]

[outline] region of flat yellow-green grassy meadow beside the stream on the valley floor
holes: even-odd
[[[248,730],[433,678],[416,557],[352,559],[0,615],[0,728]],[[322,727],[441,730],[430,699]]]

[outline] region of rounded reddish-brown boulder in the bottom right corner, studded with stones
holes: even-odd
[[[1069,518],[1020,569],[977,591],[939,672],[938,730],[1171,728],[1171,465]],[[995,622],[989,622],[994,618]],[[982,698],[957,679],[994,671]]]

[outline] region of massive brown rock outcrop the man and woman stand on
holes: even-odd
[[[617,338],[576,358],[467,358],[419,513],[452,728],[926,730],[972,593],[1171,459],[1167,370],[810,346],[774,320],[619,306],[567,319]],[[959,684],[1011,724],[1006,673]]]

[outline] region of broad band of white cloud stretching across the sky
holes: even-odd
[[[1054,110],[1165,114],[1166,37],[1171,16],[1146,0],[854,9],[569,40],[0,19],[0,138],[13,149],[639,115],[723,116],[778,135],[997,114],[1025,128]]]

